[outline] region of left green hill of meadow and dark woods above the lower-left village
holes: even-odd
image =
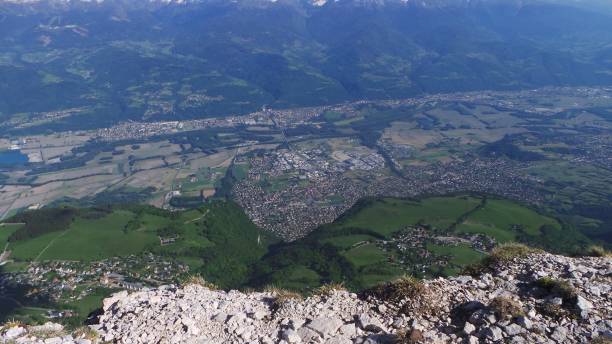
[[[132,206],[113,208],[100,216],[92,216],[88,210],[75,214],[69,223],[61,224],[65,227],[53,230],[46,223],[34,224],[30,229],[40,232],[18,240],[10,237],[23,225],[0,227],[0,246],[8,243],[10,258],[15,261],[10,265],[46,260],[91,262],[153,252],[176,258],[193,273],[201,271],[220,285],[239,286],[247,277],[246,265],[265,253],[270,239],[237,205],[223,201],[178,213]],[[40,221],[28,214],[23,217],[26,222]],[[177,240],[162,246],[160,237]]]

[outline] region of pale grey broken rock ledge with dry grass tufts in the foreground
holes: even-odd
[[[477,278],[402,279],[360,295],[322,288],[304,300],[193,284],[120,292],[104,301],[97,337],[44,342],[609,343],[611,289],[611,258],[550,254],[510,259]],[[2,334],[5,342],[44,338],[32,328]]]

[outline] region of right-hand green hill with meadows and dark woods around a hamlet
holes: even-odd
[[[409,226],[428,231],[430,237],[422,248],[431,253],[429,258],[419,255],[418,250],[400,252],[393,245],[382,244],[392,242]],[[407,271],[419,276],[455,275],[482,259],[484,253],[467,242],[440,245],[434,239],[475,233],[498,243],[524,241],[546,246],[572,240],[562,237],[558,220],[508,200],[479,195],[370,199],[359,202],[334,223],[322,226],[291,247],[269,252],[256,271],[267,271],[275,284],[294,289],[310,288],[315,278],[322,283],[344,282],[361,289]],[[424,264],[429,266],[425,270],[413,269]],[[300,275],[304,267],[318,277],[309,273],[307,283],[300,285],[300,278],[285,283],[284,276],[293,271]],[[274,273],[275,270],[282,272]]]

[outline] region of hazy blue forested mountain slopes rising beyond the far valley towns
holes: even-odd
[[[0,120],[29,131],[611,71],[601,0],[0,0]]]

